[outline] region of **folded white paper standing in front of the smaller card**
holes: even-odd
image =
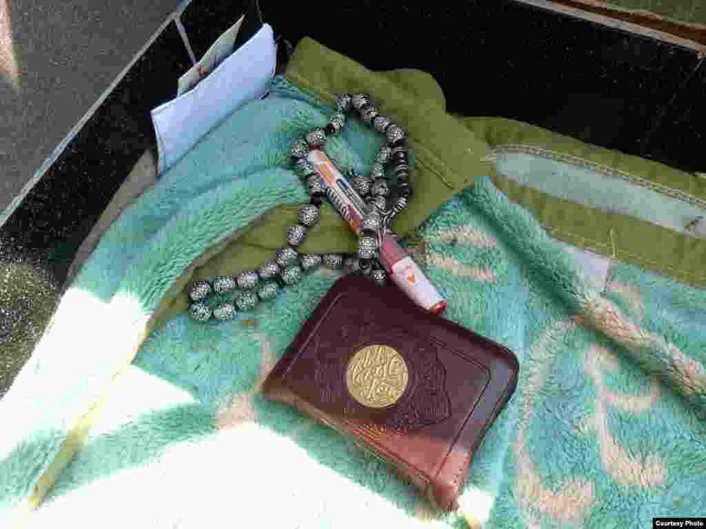
[[[265,24],[192,90],[152,110],[159,174],[229,114],[263,97],[276,66],[273,30]]]

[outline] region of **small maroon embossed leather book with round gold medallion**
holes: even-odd
[[[396,286],[345,276],[263,392],[354,437],[435,506],[453,510],[474,451],[515,390],[518,369],[507,348],[429,314]]]

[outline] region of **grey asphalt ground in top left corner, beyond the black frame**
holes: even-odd
[[[0,0],[0,212],[180,2]]]

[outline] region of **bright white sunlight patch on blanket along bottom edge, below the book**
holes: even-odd
[[[116,501],[128,490],[128,504]],[[225,527],[228,520],[247,527],[318,527],[329,520],[335,527],[354,528],[359,517],[340,518],[340,513],[361,509],[381,527],[402,521],[408,522],[405,527],[429,527],[318,463],[293,439],[254,423],[169,446],[160,458],[92,480],[60,499],[47,501],[28,527],[80,513],[77,527],[97,521],[110,528]]]

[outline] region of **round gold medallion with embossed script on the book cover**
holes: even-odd
[[[353,355],[346,368],[348,392],[369,408],[385,408],[400,400],[407,382],[407,363],[390,346],[364,347]]]

